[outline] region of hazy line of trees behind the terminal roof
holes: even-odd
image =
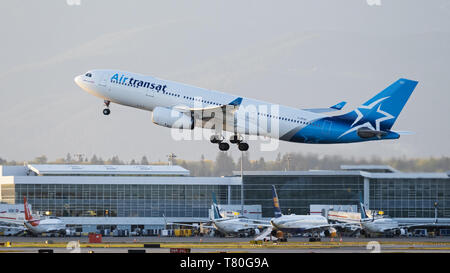
[[[174,165],[180,165],[191,172],[192,176],[228,176],[233,171],[307,171],[307,170],[338,170],[341,165],[389,165],[403,172],[447,172],[450,170],[450,157],[440,158],[390,158],[382,160],[371,158],[345,158],[339,155],[325,155],[308,153],[279,153],[275,160],[266,161],[263,157],[250,159],[250,153],[243,153],[243,159],[234,160],[229,152],[219,152],[214,160],[205,159],[203,155],[199,160],[172,159]],[[36,157],[28,162],[8,161],[0,157],[0,165],[28,164],[93,164],[93,165],[166,165],[168,161],[150,162],[147,156],[139,160],[124,161],[119,156],[103,159],[93,155],[88,159],[84,155],[71,155],[65,158],[49,161],[45,155]]]

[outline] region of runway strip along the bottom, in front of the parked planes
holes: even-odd
[[[86,237],[2,237],[0,253],[170,253],[189,249],[190,253],[450,253],[450,238],[290,238],[288,242],[251,243],[248,238],[212,237],[104,237],[102,243],[89,243]]]

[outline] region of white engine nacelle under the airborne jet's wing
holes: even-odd
[[[165,107],[153,109],[153,123],[176,129],[194,129],[194,119],[180,111]]]

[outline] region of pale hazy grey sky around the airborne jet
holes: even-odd
[[[151,114],[103,102],[76,75],[116,68],[298,108],[344,111],[406,77],[419,81],[395,141],[278,152],[354,157],[450,155],[450,1],[2,1],[0,157],[214,158],[208,141],[174,141]],[[376,2],[376,1],[369,1]],[[239,154],[232,146],[231,153]]]

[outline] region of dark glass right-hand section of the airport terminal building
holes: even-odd
[[[263,217],[273,215],[271,185],[275,185],[286,214],[321,213],[310,211],[311,205],[358,205],[361,192],[367,208],[401,222],[434,220],[435,202],[438,218],[450,220],[448,173],[404,173],[390,166],[357,165],[337,171],[248,171],[243,180],[245,203],[262,205]]]

